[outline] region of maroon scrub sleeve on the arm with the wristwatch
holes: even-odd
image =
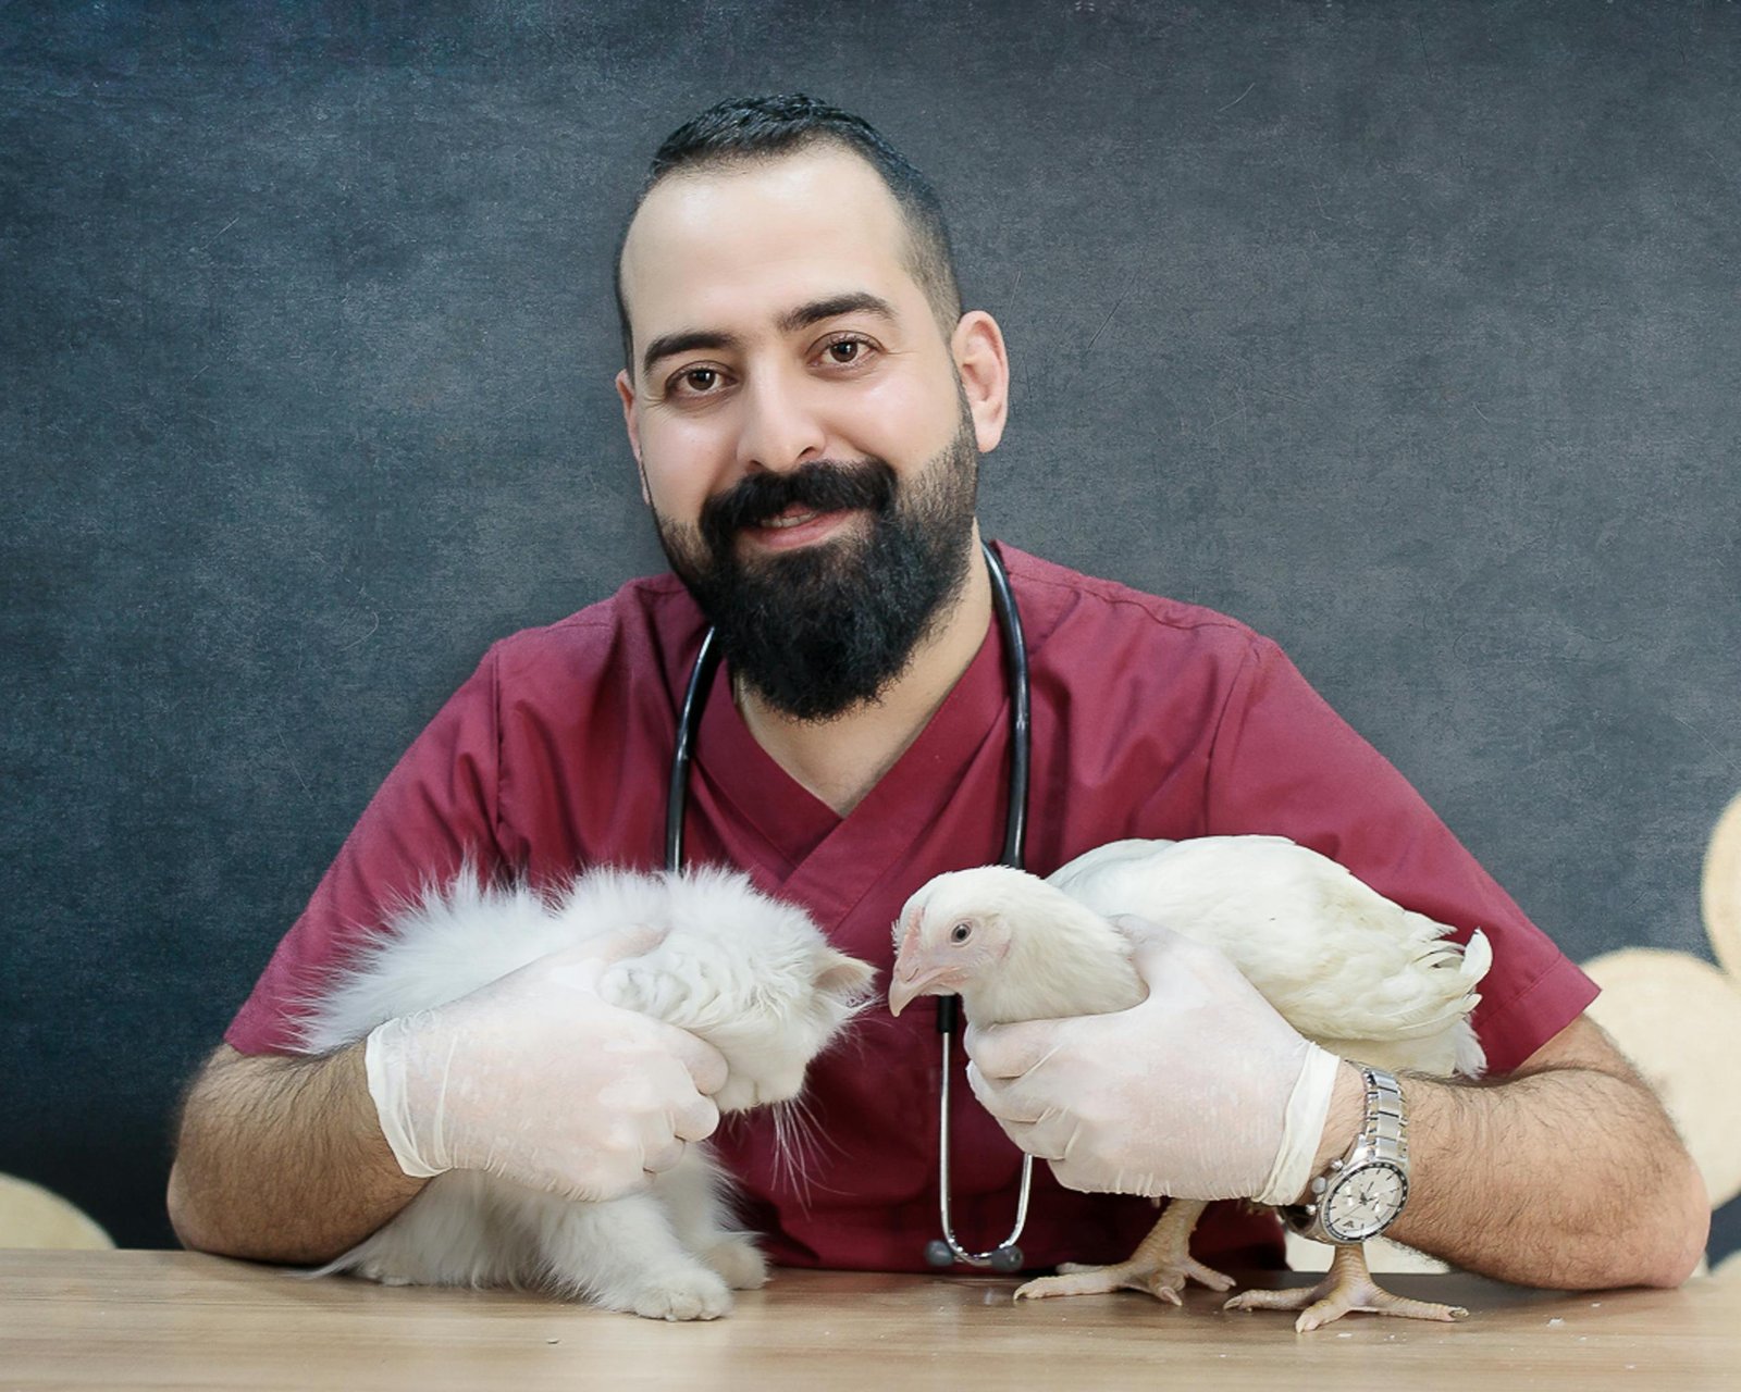
[[[1290,837],[1459,940],[1480,927],[1494,947],[1475,1011],[1490,1074],[1516,1068],[1596,997],[1414,786],[1255,635],[1210,753],[1208,832]]]

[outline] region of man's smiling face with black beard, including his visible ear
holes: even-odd
[[[623,291],[642,487],[733,672],[801,719],[874,698],[973,555],[996,325],[944,336],[893,197],[832,146],[669,177]]]

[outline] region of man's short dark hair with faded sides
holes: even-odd
[[[843,111],[801,92],[766,97],[733,97],[684,122],[653,155],[646,181],[635,195],[623,231],[616,238],[616,320],[623,334],[623,360],[634,374],[634,334],[623,299],[623,245],[641,204],[667,176],[686,169],[743,164],[790,155],[811,144],[837,144],[865,160],[895,197],[907,223],[907,264],[931,303],[944,334],[961,318],[961,287],[949,245],[944,205],[930,181],[890,144],[864,117]]]

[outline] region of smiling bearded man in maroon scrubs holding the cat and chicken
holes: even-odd
[[[935,195],[855,117],[803,97],[728,103],[655,158],[618,289],[618,392],[681,583],[639,581],[498,644],[407,752],[190,1093],[169,1202],[192,1246],[327,1258],[449,1166],[609,1197],[712,1131],[717,1054],[597,1000],[599,952],[435,1011],[421,1056],[284,1053],[298,994],[395,896],[467,861],[538,884],[662,863],[676,708],[709,621],[726,666],[689,774],[691,863],[750,870],[886,969],[905,896],[998,858],[1005,640],[973,499],[1010,374],[996,322],[961,311]],[[1525,1282],[1684,1279],[1708,1206],[1671,1126],[1583,1018],[1593,987],[1407,783],[1234,621],[1003,557],[1032,656],[1029,868],[1119,837],[1273,832],[1435,919],[1482,926],[1496,966],[1476,1025],[1504,1081],[1407,1081],[1414,1194],[1393,1235]],[[1266,1171],[1297,1060],[1240,985],[1217,987],[1215,1041],[1179,1037],[1153,1011],[1112,1047],[1097,1035],[1099,1100],[1128,1124],[1071,1155],[1072,1181],[1116,1188],[1140,1173],[1146,1192],[1168,1192],[1205,1147],[1224,1173]],[[808,1185],[782,1180],[764,1126],[719,1138],[775,1260],[923,1268],[937,1044],[916,1014],[872,1011],[813,1068]],[[1083,1063],[1078,1021],[1045,1028],[1041,1053]],[[1071,1121],[1079,1098],[1048,1093],[1045,1067],[1012,1065],[996,1042],[977,1051],[992,1105],[1025,1074],[1024,1105]],[[1168,1067],[1187,1053],[1193,1077]],[[423,1077],[430,1058],[447,1096]],[[959,1100],[956,1227],[984,1246],[1008,1227],[1018,1154]],[[446,1133],[430,1155],[420,1138],[437,1101]],[[1006,1121],[1024,1134],[1032,1115]],[[1344,1067],[1311,1117],[1313,1173],[1360,1122]],[[1153,1220],[1142,1199],[1039,1169],[1029,1265],[1114,1260]],[[1200,1256],[1273,1262],[1274,1223],[1222,1208]]]

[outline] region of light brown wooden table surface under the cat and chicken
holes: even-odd
[[[1259,1284],[1306,1284],[1269,1275]],[[1466,1275],[1393,1289],[1461,1324],[1010,1300],[992,1277],[776,1272],[710,1324],[498,1291],[388,1289],[167,1251],[0,1251],[10,1389],[1741,1389],[1741,1282],[1558,1295]]]

